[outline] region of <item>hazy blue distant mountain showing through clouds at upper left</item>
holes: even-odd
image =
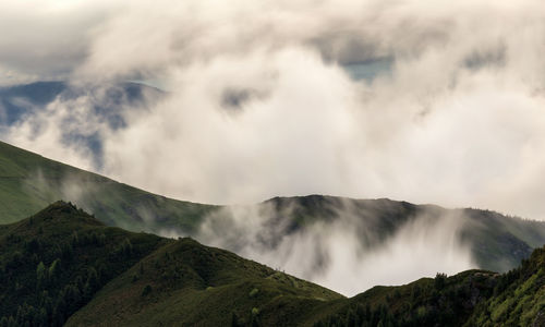
[[[105,128],[116,131],[126,125],[128,113],[147,110],[164,96],[160,89],[130,82],[101,85],[35,82],[0,87],[0,137],[23,123],[39,130],[45,117],[59,112],[66,122],[83,119],[81,116],[85,112]],[[59,106],[69,110],[60,110]],[[88,150],[94,155],[94,165],[101,167],[102,141],[99,132],[78,126],[60,132],[63,144]]]

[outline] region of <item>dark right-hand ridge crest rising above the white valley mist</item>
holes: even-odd
[[[355,230],[362,246],[380,246],[411,223],[433,226],[440,221],[456,222],[444,228],[458,228],[457,237],[471,253],[480,268],[507,271],[526,258],[533,249],[545,243],[545,222],[508,217],[491,210],[445,209],[435,205],[414,205],[387,198],[352,199],[310,195],[276,197],[268,202],[274,214],[264,226],[282,226],[270,232],[264,229],[256,238],[276,244],[290,233],[303,232],[316,221],[338,221]],[[417,226],[417,225],[416,225]],[[422,228],[422,227],[419,227]]]

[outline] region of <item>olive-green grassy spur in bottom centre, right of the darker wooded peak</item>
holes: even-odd
[[[106,286],[68,326],[226,326],[233,315],[240,324],[250,323],[252,311],[266,326],[292,326],[325,301],[341,299],[191,239],[175,241],[141,264]],[[152,291],[143,295],[146,286]]]

